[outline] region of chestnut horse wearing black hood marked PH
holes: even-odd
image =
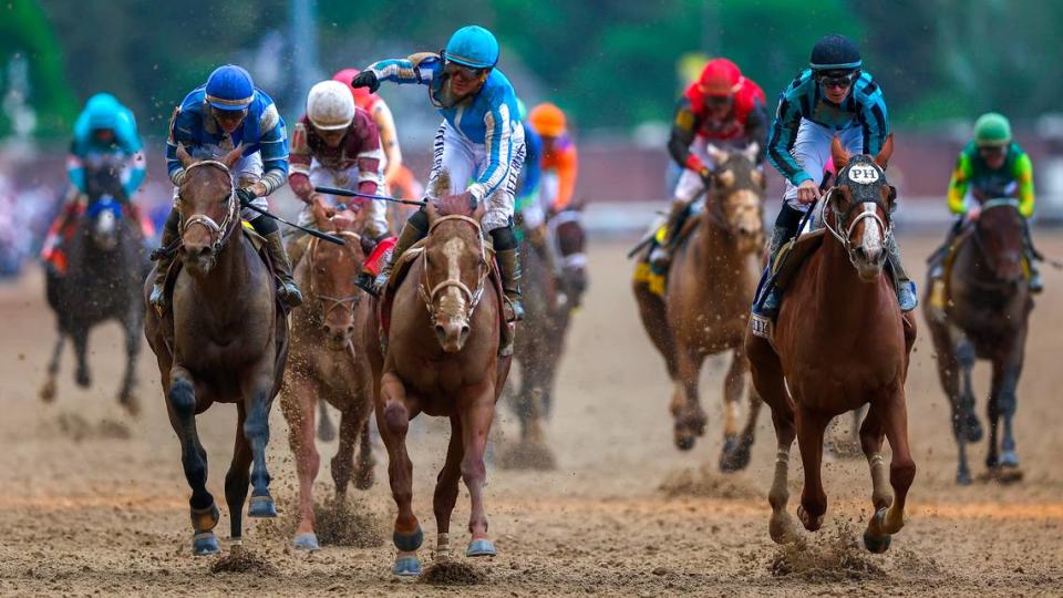
[[[789,498],[789,447],[797,437],[805,484],[797,516],[808,530],[823,525],[827,496],[819,478],[823,434],[830,420],[870,404],[860,427],[860,444],[870,466],[875,515],[864,533],[868,550],[889,548],[905,524],[905,499],[916,476],[908,446],[905,379],[916,339],[904,317],[888,272],[884,271],[896,190],[884,171],[892,152],[889,138],[874,158],[852,159],[835,138],[838,185],[822,199],[821,247],[786,289],[774,341],[746,337],[753,383],[772,410],[778,457],[768,493],[768,530],[777,543],[796,539],[786,513]],[[833,237],[833,238],[832,238]],[[835,243],[837,241],[837,243]],[[787,392],[788,391],[788,392]],[[889,439],[889,492],[883,440]]]

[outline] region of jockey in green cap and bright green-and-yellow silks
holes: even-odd
[[[967,199],[970,190],[973,204]],[[1030,156],[1011,138],[1011,123],[1002,114],[990,112],[974,123],[974,141],[960,152],[949,181],[949,212],[958,216],[949,230],[945,245],[935,251],[931,261],[932,278],[942,274],[942,257],[952,247],[952,241],[967,223],[978,219],[981,204],[998,197],[1019,199],[1025,233],[1026,265],[1030,268],[1030,290],[1041,292],[1044,285],[1036,268],[1036,252],[1030,238],[1026,220],[1033,216],[1033,163]]]

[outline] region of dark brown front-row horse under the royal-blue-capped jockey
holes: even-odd
[[[249,517],[276,517],[266,470],[269,410],[283,380],[288,327],[278,307],[269,268],[240,233],[236,182],[229,168],[237,147],[218,161],[196,162],[182,147],[186,176],[178,189],[180,271],[173,280],[173,309],[147,310],[144,333],[158,358],[166,411],[180,441],[180,460],[192,486],[192,549],[218,553],[214,527],[220,517],[207,492],[207,453],[196,415],[211,403],[236,403],[233,463],[225,475],[231,538],[242,537],[248,483]],[[154,272],[144,288],[145,305]],[[250,475],[248,468],[250,467]]]

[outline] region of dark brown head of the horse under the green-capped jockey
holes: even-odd
[[[1016,199],[1002,197],[982,204],[974,225],[974,240],[997,280],[1018,282],[1022,279],[1023,227]]]

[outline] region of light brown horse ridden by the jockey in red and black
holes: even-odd
[[[634,283],[642,324],[664,357],[674,390],[675,445],[689,451],[705,432],[698,378],[705,357],[730,350],[724,379],[726,404],[720,468],[737,471],[750,462],[761,400],[750,393],[749,421],[737,431],[745,386],[745,327],[760,278],[764,247],[764,173],[753,162],[756,147],[726,152],[710,146],[716,167],[702,213],[675,248],[665,299],[644,282]]]

